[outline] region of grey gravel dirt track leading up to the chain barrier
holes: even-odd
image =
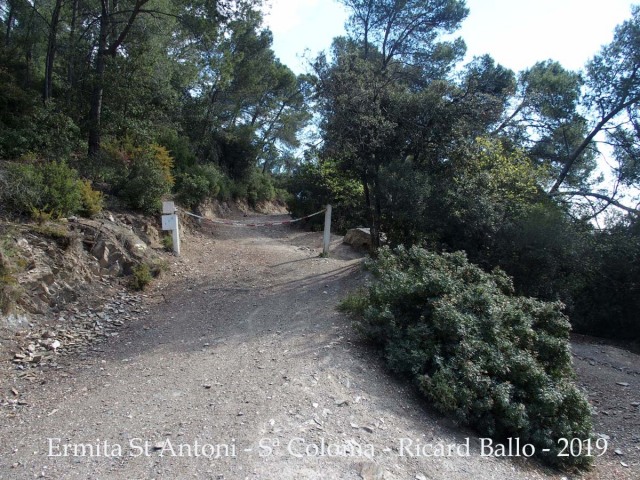
[[[185,235],[139,322],[101,352],[61,358],[46,383],[16,384],[30,407],[2,413],[0,478],[569,478],[481,456],[471,432],[389,376],[335,310],[362,283],[361,258],[338,238],[319,258],[320,237],[287,227]],[[587,389],[589,375],[602,380],[588,362]],[[622,374],[631,399],[640,377]],[[608,453],[587,478],[640,478],[628,422],[625,456]],[[411,457],[416,444],[463,454]]]

